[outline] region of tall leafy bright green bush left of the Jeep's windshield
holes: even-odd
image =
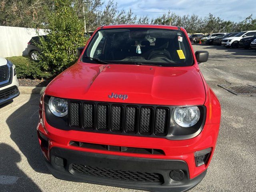
[[[47,38],[40,38],[38,44],[42,50],[40,64],[55,75],[76,62],[76,48],[85,44],[84,26],[71,0],[54,0],[54,10],[48,18]]]

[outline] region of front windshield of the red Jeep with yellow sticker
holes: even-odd
[[[90,57],[90,58],[89,58]],[[102,29],[88,44],[83,62],[191,66],[193,56],[184,32],[154,28]]]

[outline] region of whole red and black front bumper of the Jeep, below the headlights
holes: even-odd
[[[144,189],[151,191],[185,191],[195,186],[206,174],[208,165],[212,158],[216,140],[218,137],[219,124],[205,124],[202,132],[187,140],[168,140],[166,138],[125,136],[115,134],[104,134],[94,132],[82,132],[77,130],[60,130],[50,126],[40,110],[40,121],[38,123],[39,142],[44,156],[47,158],[47,166],[54,176],[64,180],[78,182],[90,182],[95,184],[106,184],[127,188]],[[44,140],[44,141],[43,141]],[[47,140],[47,142],[45,142]],[[120,151],[100,150],[72,146],[70,141],[85,142],[89,144],[125,146],[131,148],[153,148],[164,151],[164,154],[138,154]],[[58,148],[60,153],[55,151]],[[211,148],[210,156],[205,164],[196,166],[195,152]],[[61,170],[53,162],[55,156],[64,158],[66,163]],[[98,160],[98,156],[102,160]],[[90,159],[87,161],[87,157]],[[119,163],[108,164],[108,162],[119,160]],[[128,160],[132,163],[128,163]],[[98,162],[98,163],[94,163]],[[134,184],[134,182],[120,182],[106,178],[95,179],[90,176],[74,174],[70,172],[70,164],[81,164],[82,166],[97,166],[106,169],[132,170],[137,172],[156,172],[163,175],[162,184]],[[126,166],[127,164],[127,166]],[[158,164],[163,164],[160,166]],[[140,166],[139,166],[140,165]],[[138,168],[138,169],[137,169]],[[174,181],[170,178],[171,170],[184,171],[182,181]]]

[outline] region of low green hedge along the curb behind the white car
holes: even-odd
[[[52,75],[43,72],[38,62],[32,61],[29,57],[14,56],[6,58],[16,66],[17,78],[47,79]]]

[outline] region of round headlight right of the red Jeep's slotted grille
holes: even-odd
[[[200,110],[197,106],[177,107],[174,110],[174,120],[182,127],[195,125],[200,118]]]

